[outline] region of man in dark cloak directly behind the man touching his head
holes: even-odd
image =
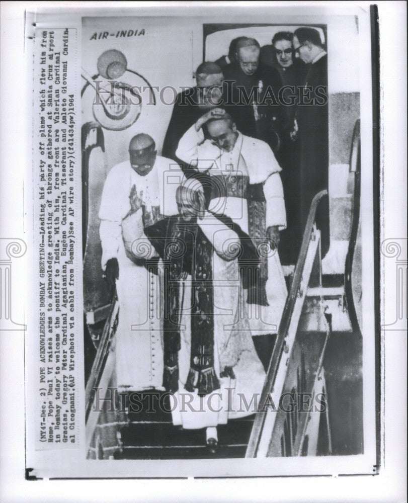
[[[196,81],[196,87],[177,95],[162,149],[162,155],[176,160],[183,169],[188,166],[176,157],[177,145],[187,129],[221,101],[224,81],[221,67],[216,63],[201,63],[196,71]]]

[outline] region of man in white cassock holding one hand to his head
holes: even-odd
[[[186,131],[176,155],[191,163],[211,186],[208,209],[230,217],[257,247],[263,293],[242,305],[252,336],[268,339],[277,332],[287,296],[277,253],[279,233],[286,228],[281,167],[267,143],[241,134],[231,116],[219,108]],[[250,295],[248,291],[247,300]],[[254,343],[260,339],[255,337]],[[258,352],[262,359],[262,350]],[[267,367],[269,362],[263,363]]]

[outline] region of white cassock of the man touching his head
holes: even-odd
[[[266,229],[277,226],[286,228],[286,211],[283,187],[279,172],[282,171],[274,153],[267,143],[238,132],[231,152],[226,152],[204,138],[202,130],[194,125],[180,139],[177,157],[195,166],[198,172],[207,173],[221,180],[226,194],[212,197],[209,209],[214,213],[229,216],[251,237],[254,230],[259,238],[260,254],[265,254],[267,264],[266,297],[269,306],[246,305],[246,316],[250,319],[252,335],[276,333],[287,297],[285,278],[278,251],[265,249],[260,244],[266,239]],[[248,184],[262,184],[265,197],[264,228],[257,218],[249,216],[246,200]],[[261,219],[260,219],[261,220]],[[258,228],[257,228],[258,226]],[[266,257],[267,256],[267,257]]]

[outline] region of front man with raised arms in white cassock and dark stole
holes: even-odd
[[[253,293],[248,302],[261,296],[260,259],[230,218],[205,211],[199,182],[185,181],[176,200],[179,214],[134,228],[131,251],[136,259],[158,255],[163,262],[163,386],[175,399],[173,423],[205,428],[214,453],[217,425],[253,413],[242,410],[238,393],[249,403],[265,379],[248,320],[240,313],[241,288]],[[137,199],[134,203],[137,215],[141,207]]]

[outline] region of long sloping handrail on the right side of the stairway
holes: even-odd
[[[261,440],[262,430],[266,418],[266,413],[264,412],[264,405],[267,402],[268,395],[271,392],[273,384],[276,379],[279,363],[285,347],[285,338],[289,330],[289,325],[295,307],[296,298],[298,296],[298,292],[301,286],[307,249],[309,247],[309,243],[312,237],[313,224],[316,218],[317,207],[324,196],[328,196],[327,190],[322,190],[318,192],[314,196],[313,201],[310,205],[309,215],[307,217],[307,222],[303,233],[302,245],[300,247],[299,257],[297,259],[295,273],[293,275],[293,281],[290,287],[289,295],[286,298],[285,307],[283,309],[282,318],[279,324],[278,336],[276,339],[274,350],[272,352],[271,361],[269,363],[268,372],[266,374],[264,387],[261,393],[260,411],[257,412],[257,415],[255,417],[254,426],[252,428],[251,437],[248,444],[246,454],[247,458],[255,457],[256,452],[258,450],[259,442]]]

